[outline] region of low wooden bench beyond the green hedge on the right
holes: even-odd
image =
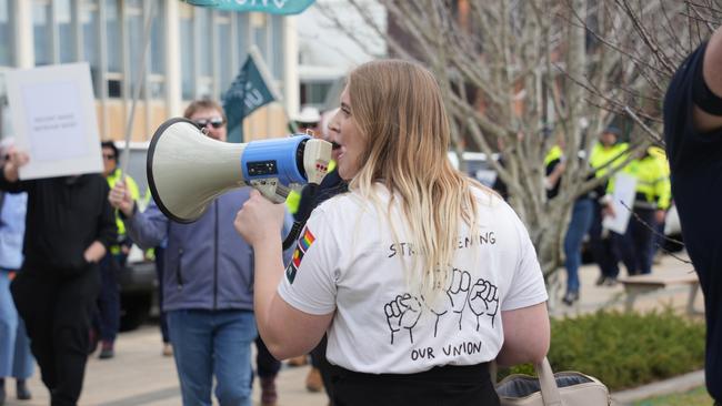
[[[700,313],[694,309],[694,301],[696,300],[696,294],[700,288],[700,280],[698,278],[695,272],[686,272],[674,275],[649,274],[625,276],[620,277],[619,282],[624,286],[624,292],[626,293],[624,309],[628,312],[634,307],[634,301],[636,301],[636,298],[641,295],[645,295],[651,292],[665,288],[668,286],[689,285],[690,293],[686,300],[686,312],[690,315]]]

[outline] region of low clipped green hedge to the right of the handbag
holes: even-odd
[[[665,379],[704,365],[704,325],[671,309],[646,314],[600,311],[552,319],[551,326],[548,358],[552,369],[594,376],[610,390]],[[520,365],[503,373],[532,372],[531,365]]]

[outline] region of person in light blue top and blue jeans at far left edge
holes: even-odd
[[[7,139],[9,140],[9,139]],[[0,159],[9,142],[0,145]],[[22,238],[26,232],[27,193],[0,192],[0,405],[6,402],[4,378],[16,378],[19,400],[32,397],[27,379],[34,369],[26,325],[18,316],[10,282],[22,265]]]

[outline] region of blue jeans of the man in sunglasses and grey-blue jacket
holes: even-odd
[[[213,376],[221,406],[251,405],[252,312],[170,311],[168,328],[184,406],[211,406]]]

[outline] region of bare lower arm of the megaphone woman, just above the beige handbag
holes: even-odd
[[[501,312],[504,345],[497,355],[500,366],[540,363],[549,352],[550,326],[546,303]]]

